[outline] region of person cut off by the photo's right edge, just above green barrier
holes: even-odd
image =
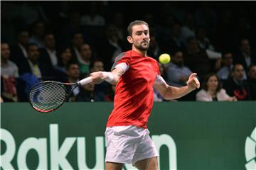
[[[256,64],[252,64],[249,67],[248,83],[250,88],[251,99],[256,100]]]

